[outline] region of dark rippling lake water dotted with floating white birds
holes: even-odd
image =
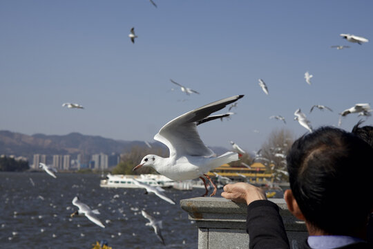
[[[177,203],[171,205],[142,189],[99,187],[99,180],[97,174],[57,173],[52,178],[42,172],[0,172],[0,248],[93,248],[103,239],[113,249],[198,247],[198,229],[179,203],[200,196],[203,189],[166,190]],[[84,216],[70,219],[77,210],[71,203],[75,196],[99,210],[106,228]],[[166,246],[145,225],[141,210],[163,221]]]

